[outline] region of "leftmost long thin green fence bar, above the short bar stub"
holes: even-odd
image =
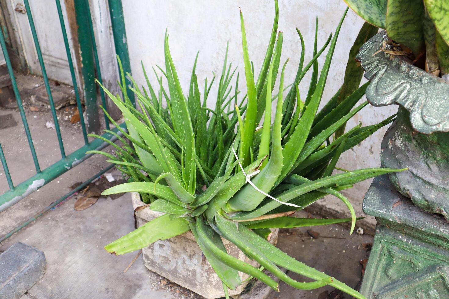
[[[16,96],[17,106],[19,108],[20,117],[22,118],[23,127],[25,129],[26,139],[30,146],[31,156],[33,157],[34,166],[36,172],[40,173],[39,161],[37,160],[36,150],[34,148],[33,139],[31,138],[30,128],[28,127],[28,121],[26,121],[25,111],[23,110],[22,99],[20,98],[19,90],[17,88],[16,77],[14,76],[13,67],[9,60],[8,50],[6,49],[6,43],[4,41],[3,30],[0,30],[0,44],[3,51],[4,60],[6,61],[6,67],[8,69],[9,78],[13,86],[14,95]]]

